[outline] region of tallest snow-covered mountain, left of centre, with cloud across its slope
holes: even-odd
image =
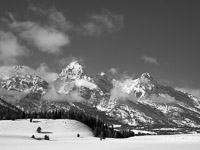
[[[70,94],[76,90],[85,99],[103,96],[102,90],[96,85],[94,79],[86,74],[83,66],[77,61],[71,62],[63,69],[55,82],[60,85],[59,94]]]

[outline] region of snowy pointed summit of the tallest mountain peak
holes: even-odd
[[[85,70],[81,64],[77,61],[72,61],[67,65],[65,69],[62,70],[59,77],[66,79],[80,79],[85,75]]]

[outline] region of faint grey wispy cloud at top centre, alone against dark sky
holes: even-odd
[[[89,21],[82,24],[80,31],[84,35],[99,36],[103,32],[115,32],[124,26],[124,16],[103,10],[100,14],[92,14]]]

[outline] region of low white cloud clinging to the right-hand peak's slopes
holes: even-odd
[[[151,100],[154,103],[175,103],[176,100],[174,97],[169,96],[168,94],[151,94],[145,92],[145,89],[143,86],[139,85],[145,85],[146,81],[138,79],[134,79],[134,77],[131,76],[125,76],[121,77],[119,80],[112,80],[113,88],[111,89],[111,99],[117,99],[117,100],[129,100],[136,102],[138,100]],[[141,93],[140,97],[137,96],[136,93]],[[148,97],[146,96],[148,95]]]

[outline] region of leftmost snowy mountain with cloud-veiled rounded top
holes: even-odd
[[[0,86],[7,90],[44,94],[48,83],[27,66],[14,66],[0,75]]]

